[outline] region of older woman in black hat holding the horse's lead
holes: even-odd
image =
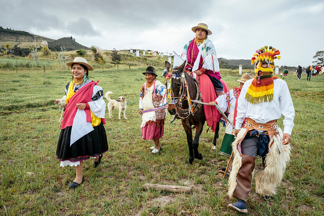
[[[158,108],[167,104],[166,87],[160,81],[156,80],[154,67],[148,66],[143,73],[146,82],[143,84],[140,92],[139,113],[142,115],[142,138],[153,139],[154,146],[150,149],[152,153],[157,153],[161,148],[160,138],[164,132],[164,119],[166,110],[160,109],[151,112],[142,113],[144,110]]]

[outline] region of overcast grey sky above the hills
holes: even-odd
[[[103,49],[182,52],[203,22],[217,57],[251,59],[268,45],[276,65],[308,66],[324,50],[324,1],[0,0],[0,25]]]

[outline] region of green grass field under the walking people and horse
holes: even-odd
[[[0,72],[0,215],[239,215],[227,210],[231,202],[227,178],[218,173],[226,162],[209,152],[214,136],[206,133],[206,125],[199,145],[203,160],[187,165],[185,132],[179,120],[168,123],[169,114],[161,139],[163,152],[152,155],[153,142],[142,140],[138,114],[146,67],[116,68],[96,69],[89,78],[100,80],[104,92],[113,92],[111,98],[126,98],[128,119],[118,120],[116,110],[109,119],[106,110],[109,151],[97,169],[92,160],[85,162],[86,181],[75,190],[67,188],[75,169],[61,168],[56,160],[60,111],[53,104],[63,96],[71,72]],[[158,75],[162,70],[157,68]],[[237,71],[221,70],[221,75],[230,88],[238,86]],[[293,75],[284,79],[296,112],[291,162],[270,202],[252,189],[247,215],[324,215],[324,76],[308,82],[306,75],[301,80]],[[217,149],[223,136],[221,128]],[[258,161],[256,170],[260,169]],[[140,186],[145,183],[191,186],[192,190],[191,194],[143,191]]]

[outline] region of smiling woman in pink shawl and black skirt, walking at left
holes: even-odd
[[[56,156],[62,167],[75,166],[76,177],[69,186],[75,188],[85,181],[83,161],[93,157],[96,168],[108,150],[106,104],[98,82],[88,79],[93,67],[86,59],[76,57],[66,65],[72,68],[73,79],[65,86],[65,96],[55,101],[64,109]]]

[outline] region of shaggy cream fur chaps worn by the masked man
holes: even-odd
[[[233,198],[233,192],[237,185],[236,175],[239,168],[242,166],[242,158],[239,151],[237,150],[237,145],[245,137],[247,129],[241,128],[237,134],[237,138],[232,143],[234,150],[234,161],[232,165],[232,172],[228,179],[228,195]],[[276,194],[276,186],[282,181],[284,176],[284,171],[286,169],[287,163],[290,161],[290,145],[283,145],[283,131],[278,127],[278,134],[276,136],[270,137],[270,142],[272,147],[269,148],[269,152],[265,158],[265,168],[260,171],[255,178],[255,190],[258,194],[263,196],[272,196]],[[252,174],[253,176],[253,174]]]

